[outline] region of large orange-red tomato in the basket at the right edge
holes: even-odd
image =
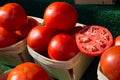
[[[113,46],[102,54],[100,67],[109,80],[120,80],[120,46]]]

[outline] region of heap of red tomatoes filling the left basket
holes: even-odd
[[[0,48],[19,42],[38,22],[27,16],[18,3],[6,3],[0,7]]]

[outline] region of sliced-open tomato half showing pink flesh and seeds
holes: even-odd
[[[113,44],[111,32],[98,25],[85,26],[75,38],[79,50],[88,56],[100,56]]]

